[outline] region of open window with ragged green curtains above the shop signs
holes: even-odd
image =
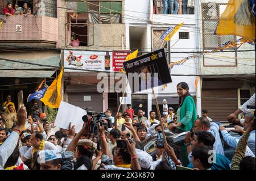
[[[91,46],[94,39],[94,26],[98,23],[121,23],[121,1],[67,1],[66,45]],[[78,40],[79,44],[73,44]]]

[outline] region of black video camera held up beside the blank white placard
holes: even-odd
[[[82,116],[82,120],[86,123],[86,130],[90,133],[98,133],[100,131],[98,129],[98,123],[100,123],[101,127],[105,126],[106,130],[112,128],[112,122],[106,117],[104,112],[88,111],[87,115]],[[108,123],[104,123],[104,120],[108,121]]]

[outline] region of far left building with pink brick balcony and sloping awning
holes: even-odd
[[[3,7],[8,2],[13,3],[13,7],[15,3],[19,7],[27,3],[30,14],[3,15]],[[0,18],[3,20],[0,28],[1,103],[11,95],[18,106],[18,91],[23,90],[26,100],[44,78],[49,85],[56,77],[55,70],[60,65],[58,6],[60,0],[0,1]]]

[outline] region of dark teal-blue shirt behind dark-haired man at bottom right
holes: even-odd
[[[212,170],[230,170],[230,160],[226,158],[224,155],[216,154],[216,157],[214,159],[214,163],[211,167]],[[187,166],[191,169],[193,169],[193,163],[189,163]]]

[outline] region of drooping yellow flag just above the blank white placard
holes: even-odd
[[[51,86],[47,87],[46,93],[44,94],[43,98],[40,99],[44,104],[46,104],[46,106],[49,106],[51,108],[60,107],[60,89],[63,69],[64,68],[62,67],[58,77],[52,82]]]

